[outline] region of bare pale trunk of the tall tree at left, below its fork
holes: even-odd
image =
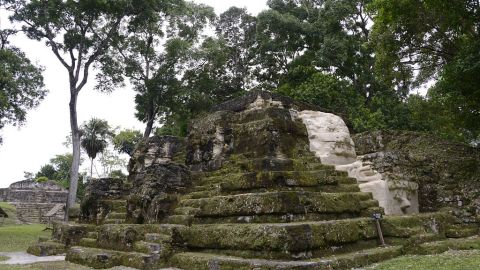
[[[78,92],[70,90],[70,128],[72,131],[73,161],[70,168],[70,188],[68,190],[67,206],[65,208],[65,221],[68,221],[68,210],[75,204],[78,188],[78,169],[80,167],[80,130],[77,121]]]

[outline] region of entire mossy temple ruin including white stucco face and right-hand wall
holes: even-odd
[[[187,138],[142,141],[127,182],[92,180],[79,220],[29,252],[100,269],[300,270],[480,249],[479,152],[410,135],[351,135],[335,114],[248,92]]]

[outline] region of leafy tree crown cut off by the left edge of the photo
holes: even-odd
[[[13,33],[0,29],[0,130],[6,124],[21,125],[27,110],[36,107],[47,94],[42,68],[9,44],[8,37]]]

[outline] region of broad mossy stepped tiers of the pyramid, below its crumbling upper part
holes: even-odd
[[[384,217],[388,246],[378,247],[371,214],[382,209],[345,172],[305,161],[314,158],[234,159],[194,174],[164,224],[121,224],[125,214],[111,212],[68,250],[67,260],[94,268],[348,269],[445,241],[454,228],[448,213]],[[478,232],[455,226],[466,230],[462,237]],[[470,243],[480,245],[477,238]]]

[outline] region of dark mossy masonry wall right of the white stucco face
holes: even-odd
[[[353,136],[358,155],[391,180],[419,185],[420,212],[452,208],[465,222],[480,217],[480,149],[406,131]]]

